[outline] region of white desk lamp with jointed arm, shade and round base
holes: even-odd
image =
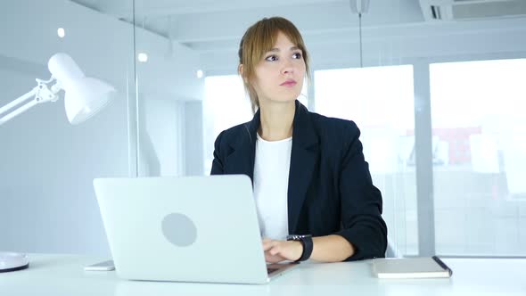
[[[56,102],[61,90],[65,93],[66,115],[73,125],[91,118],[115,98],[113,86],[102,80],[86,77],[66,53],[54,54],[49,59],[47,68],[52,74],[49,80],[37,79],[37,86],[29,93],[0,108],[0,126],[38,103]],[[27,267],[29,259],[26,254],[0,252],[0,273]]]

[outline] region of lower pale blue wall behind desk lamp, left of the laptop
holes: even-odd
[[[2,103],[34,78],[0,71]],[[126,176],[126,101],[79,126],[62,100],[12,119],[0,127],[0,250],[108,253],[92,180]]]

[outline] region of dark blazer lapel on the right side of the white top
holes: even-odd
[[[289,232],[295,234],[298,218],[319,157],[318,136],[307,108],[296,101],[292,129],[291,167],[289,169]]]

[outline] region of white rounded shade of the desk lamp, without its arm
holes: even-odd
[[[66,115],[71,124],[78,124],[95,115],[116,96],[116,90],[106,82],[88,78],[70,55],[54,54],[47,64],[57,86],[64,90]]]

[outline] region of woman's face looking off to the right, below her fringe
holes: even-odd
[[[282,32],[274,47],[263,55],[255,67],[252,86],[261,101],[290,102],[298,98],[305,77],[305,61],[301,50]]]

